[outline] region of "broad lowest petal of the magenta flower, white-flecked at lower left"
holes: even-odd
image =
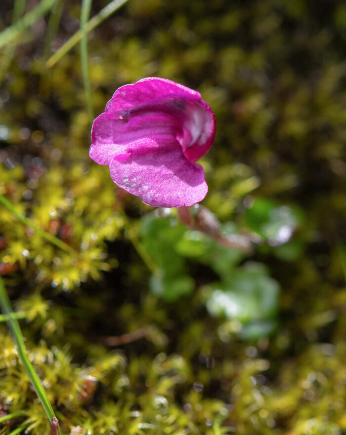
[[[202,166],[189,162],[174,138],[139,140],[109,165],[113,181],[153,207],[181,207],[208,192]]]

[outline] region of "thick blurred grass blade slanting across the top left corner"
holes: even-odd
[[[21,34],[30,26],[32,26],[39,18],[41,18],[53,6],[57,0],[41,0],[30,12],[24,15],[11,26],[7,27],[0,33],[0,48],[5,44],[21,36]]]

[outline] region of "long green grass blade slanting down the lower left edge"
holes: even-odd
[[[55,417],[53,408],[51,407],[48,397],[45,394],[44,388],[41,384],[41,381],[25,352],[25,345],[24,345],[22,331],[20,330],[18,320],[13,316],[14,313],[11,307],[11,303],[9,297],[7,296],[7,292],[1,277],[0,277],[0,307],[1,307],[1,311],[9,317],[6,323],[9,330],[11,331],[13,341],[17,346],[18,355],[23,363],[23,366],[29,376],[29,379],[37,395],[41,400],[45,413],[47,414],[49,421],[51,421],[52,418]],[[27,427],[27,425],[24,426],[25,428]]]

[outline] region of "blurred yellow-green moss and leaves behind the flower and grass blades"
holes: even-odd
[[[81,3],[3,0],[0,29],[37,7],[0,48],[0,194],[70,248],[0,204],[0,274],[62,432],[346,434],[346,3],[129,0],[89,34],[95,116],[147,76],[211,105],[203,204],[247,255],[88,158],[79,45],[48,61]],[[1,320],[1,434],[48,434]]]

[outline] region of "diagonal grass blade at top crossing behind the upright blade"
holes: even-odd
[[[87,22],[87,33],[95,29],[106,18],[110,17],[116,10],[118,10],[128,0],[113,0],[101,9]],[[64,45],[62,45],[46,62],[46,67],[51,68],[58,62],[71,48],[73,48],[82,39],[82,31],[78,30]]]

